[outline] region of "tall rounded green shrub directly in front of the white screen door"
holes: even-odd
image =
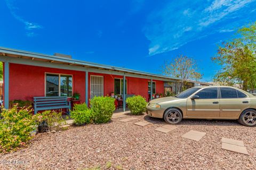
[[[94,123],[107,123],[115,111],[115,99],[111,97],[94,97],[91,102]]]

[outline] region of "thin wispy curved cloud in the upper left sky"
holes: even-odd
[[[6,2],[7,7],[10,10],[12,16],[15,19],[17,19],[18,21],[20,21],[23,24],[25,24],[25,29],[26,30],[30,31],[30,30],[33,30],[33,29],[41,29],[42,28],[41,25],[39,25],[37,23],[34,23],[34,22],[29,22],[29,21],[23,19],[21,16],[19,16],[17,14],[17,10],[19,10],[19,8],[14,5],[15,0],[5,0],[5,2]],[[27,32],[26,35],[28,37],[34,37],[35,33],[34,32]]]

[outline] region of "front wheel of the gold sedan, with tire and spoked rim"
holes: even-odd
[[[169,124],[177,124],[182,120],[182,113],[177,108],[166,109],[164,113],[164,120]]]

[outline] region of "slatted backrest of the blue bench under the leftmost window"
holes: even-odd
[[[67,97],[34,97],[34,106],[51,107],[59,105],[68,105]]]

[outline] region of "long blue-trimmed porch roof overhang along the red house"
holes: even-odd
[[[10,49],[4,47],[0,47],[0,61],[16,64],[52,67],[66,70],[87,71],[113,75],[126,75],[126,77],[154,79],[168,82],[177,82],[182,80],[180,78],[166,77],[164,75],[125,69],[122,67],[85,62],[80,60],[74,60],[72,58],[45,55],[41,53],[27,52],[24,50]]]

